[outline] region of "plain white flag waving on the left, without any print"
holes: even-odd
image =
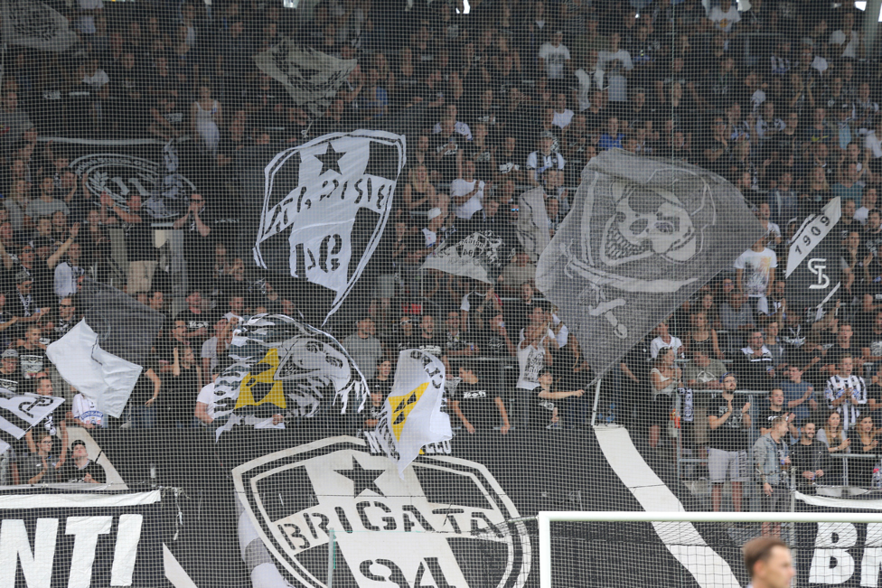
[[[108,415],[119,418],[132,395],[141,366],[102,350],[83,319],[46,349],[61,378]]]

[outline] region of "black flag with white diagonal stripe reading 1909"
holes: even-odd
[[[840,199],[834,198],[802,222],[793,235],[784,274],[784,296],[789,308],[818,307],[840,291]]]

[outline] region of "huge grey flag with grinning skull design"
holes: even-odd
[[[610,150],[582,172],[536,284],[602,376],[764,234],[717,174]]]

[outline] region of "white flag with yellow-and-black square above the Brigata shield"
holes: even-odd
[[[450,417],[441,412],[444,397],[444,364],[420,350],[403,350],[395,370],[395,383],[383,406],[377,436],[399,475],[429,443],[453,438]]]

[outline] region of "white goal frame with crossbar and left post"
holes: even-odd
[[[536,515],[539,523],[540,588],[551,588],[551,522],[623,523],[882,523],[882,512],[651,512],[646,510],[553,510]]]

